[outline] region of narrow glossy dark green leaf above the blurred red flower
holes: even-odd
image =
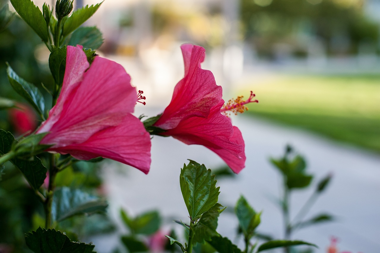
[[[9,83],[12,85],[13,89],[25,98],[33,106],[36,112],[43,117],[45,101],[40,90],[38,90],[33,84],[17,76],[11,66],[8,65],[6,72],[8,74]]]

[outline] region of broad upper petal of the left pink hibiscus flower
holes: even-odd
[[[69,46],[68,50],[73,48],[86,57],[80,47]],[[69,59],[67,65],[75,64]],[[65,78],[72,75],[66,73]],[[133,112],[137,99],[136,88],[131,86],[130,76],[120,64],[97,56],[83,74],[82,81],[77,84],[74,89],[62,90],[61,103],[56,105],[61,108],[60,113],[51,116],[54,124],[49,123],[50,128],[38,130],[38,133],[50,132],[41,141],[42,144],[62,147],[81,143],[103,128],[118,125],[126,114]],[[55,107],[52,111],[56,112]],[[51,117],[47,122],[53,120]]]

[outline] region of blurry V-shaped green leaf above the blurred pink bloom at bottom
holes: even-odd
[[[120,210],[121,217],[133,234],[150,235],[158,231],[161,224],[160,214],[157,211],[149,211],[135,218],[128,217],[124,210]]]

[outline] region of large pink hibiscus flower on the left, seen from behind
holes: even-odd
[[[137,99],[121,65],[97,56],[89,66],[81,46],[68,46],[62,90],[37,131],[49,132],[40,143],[78,159],[110,158],[147,174],[150,136],[131,114]]]

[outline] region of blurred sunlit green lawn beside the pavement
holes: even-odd
[[[248,115],[380,153],[380,76],[271,76],[244,87],[260,101]]]

